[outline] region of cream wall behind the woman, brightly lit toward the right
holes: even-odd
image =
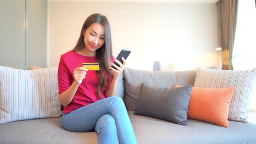
[[[113,55],[131,50],[127,67],[187,70],[220,64],[215,4],[135,2],[48,2],[49,67],[73,49],[90,14],[108,17]],[[173,67],[174,64],[174,67]]]

